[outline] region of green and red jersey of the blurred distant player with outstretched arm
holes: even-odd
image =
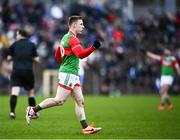
[[[161,75],[174,75],[174,66],[177,64],[174,56],[161,56]]]

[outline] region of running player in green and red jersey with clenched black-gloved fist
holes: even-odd
[[[101,46],[100,41],[95,40],[87,49],[83,49],[78,34],[82,34],[84,29],[81,16],[71,16],[68,21],[69,31],[63,36],[59,47],[55,51],[55,58],[61,64],[59,68],[59,85],[55,98],[48,98],[42,101],[36,107],[27,107],[26,121],[30,121],[34,114],[42,109],[63,105],[71,95],[75,101],[76,115],[82,125],[83,134],[94,134],[101,128],[95,128],[88,125],[84,111],[84,97],[79,81],[79,59],[89,56]]]

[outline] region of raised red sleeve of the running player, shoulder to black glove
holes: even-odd
[[[84,49],[80,44],[80,41],[74,36],[70,37],[69,46],[74,55],[81,59],[89,56],[94,51],[94,48],[92,46],[87,49]]]

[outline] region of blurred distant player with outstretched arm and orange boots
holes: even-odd
[[[152,59],[156,59],[161,63],[161,79],[160,79],[160,95],[161,103],[158,106],[158,110],[164,110],[165,104],[167,103],[168,110],[173,109],[173,104],[171,103],[168,95],[168,90],[173,83],[174,68],[176,68],[178,74],[180,75],[180,68],[177,59],[172,55],[172,52],[165,48],[164,55],[157,55],[152,52],[147,51],[146,55]]]

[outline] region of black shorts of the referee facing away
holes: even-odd
[[[25,90],[34,88],[34,74],[32,70],[13,70],[11,86],[24,87]]]

